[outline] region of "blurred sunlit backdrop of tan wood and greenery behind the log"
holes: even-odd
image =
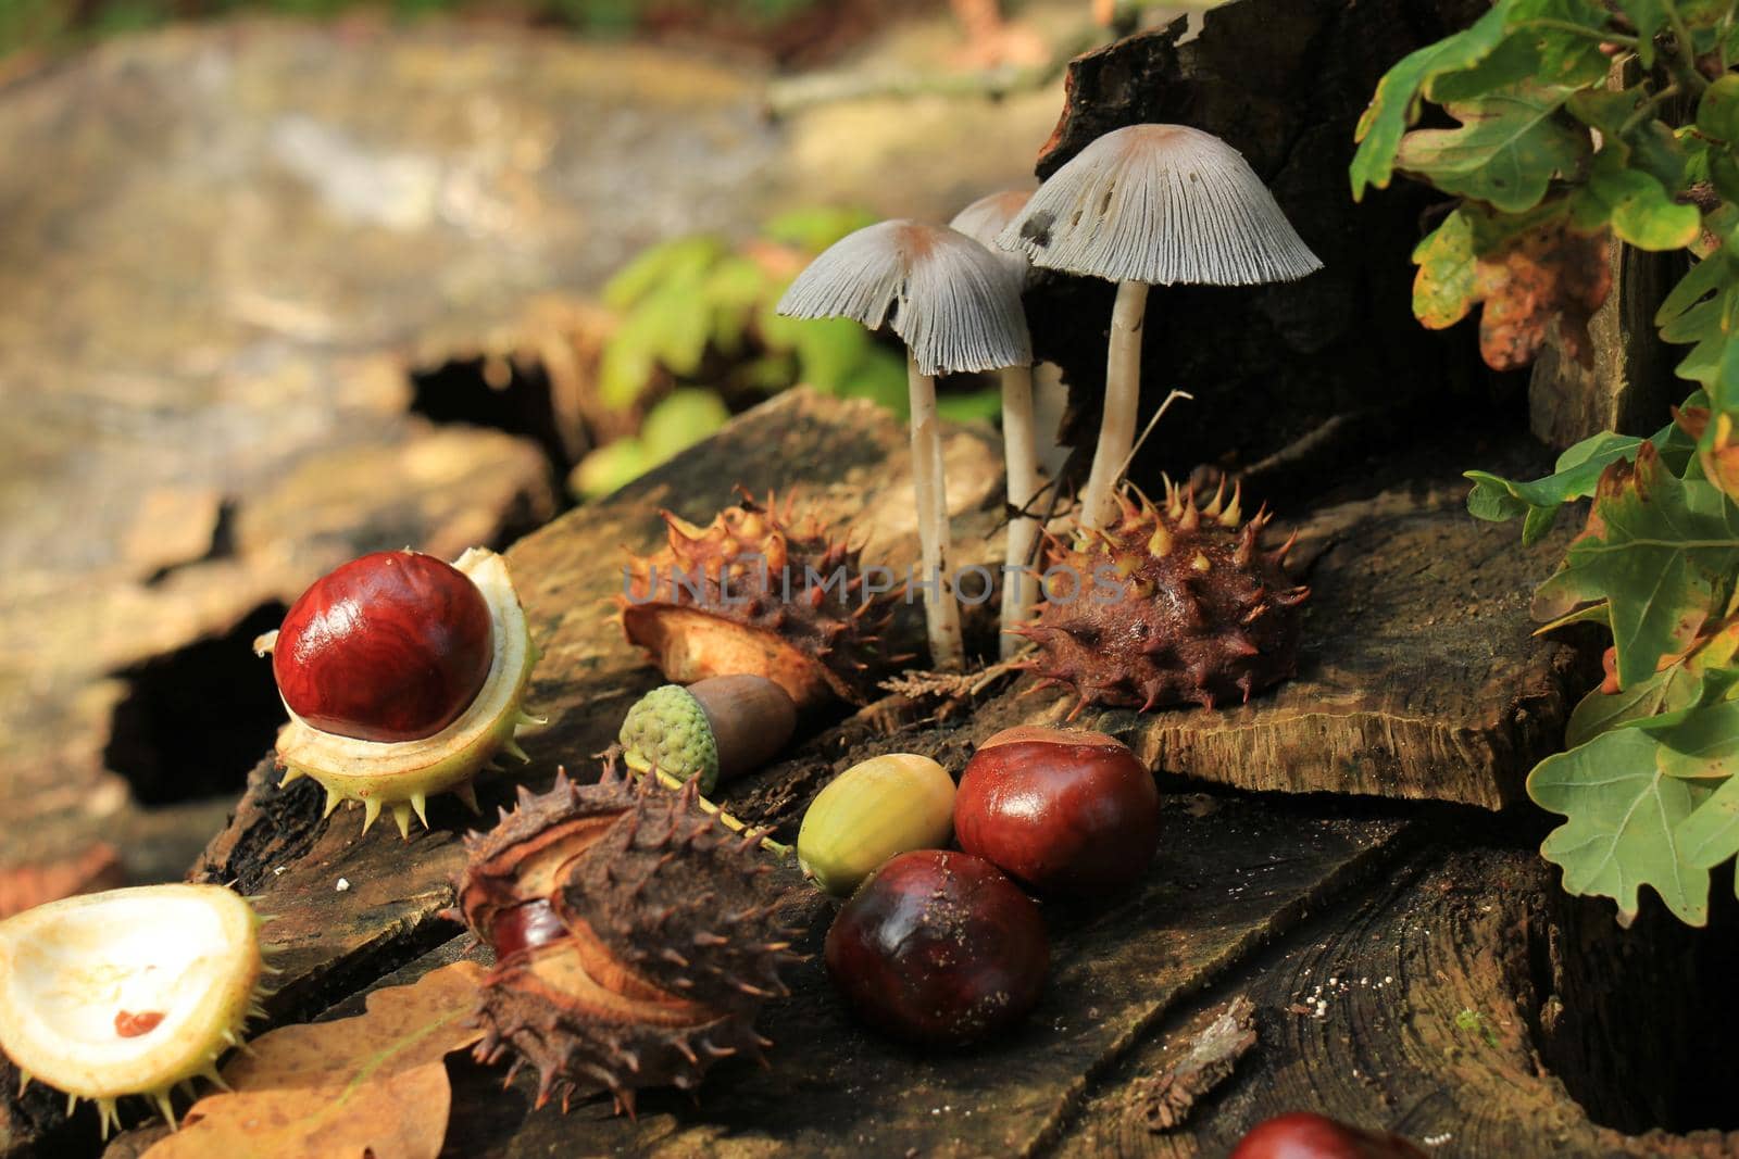
[[[337,563],[504,547],[798,382],[903,410],[786,283],[1031,188],[1066,63],[1202,7],[0,0],[0,916],[181,876]]]

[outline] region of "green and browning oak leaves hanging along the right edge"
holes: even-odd
[[[1447,327],[1483,302],[1489,361],[1530,353],[1537,302],[1581,321],[1605,292],[1567,236],[1696,259],[1654,318],[1696,387],[1673,424],[1589,438],[1541,480],[1468,473],[1468,509],[1520,520],[1523,544],[1588,504],[1534,613],[1541,631],[1610,631],[1607,679],[1529,792],[1565,818],[1542,846],[1563,886],[1614,898],[1626,923],[1647,886],[1702,924],[1709,871],[1739,855],[1734,63],[1736,0],[1496,0],[1389,70],[1349,170],[1355,198],[1396,172],[1457,198],[1414,254],[1414,313]],[[1456,127],[1414,129],[1426,103]]]

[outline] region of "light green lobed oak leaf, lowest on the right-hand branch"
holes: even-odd
[[[1709,871],[1689,860],[1678,825],[1708,789],[1656,768],[1657,747],[1647,732],[1616,728],[1534,766],[1529,796],[1567,818],[1539,851],[1563,869],[1569,893],[1614,898],[1624,924],[1635,919],[1647,884],[1680,921],[1701,926]]]

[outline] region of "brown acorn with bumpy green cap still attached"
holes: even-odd
[[[796,732],[796,705],[765,676],[708,676],[643,695],[623,719],[623,761],[636,773],[657,768],[697,780],[710,794],[722,780],[760,768]]]

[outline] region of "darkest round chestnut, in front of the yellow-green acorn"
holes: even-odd
[[[826,942],[828,975],[864,1022],[941,1046],[1024,1018],[1049,961],[1038,907],[989,862],[941,850],[887,860]]]

